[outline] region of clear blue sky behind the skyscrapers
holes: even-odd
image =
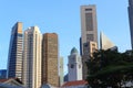
[[[131,48],[127,0],[0,0],[0,69],[7,68],[11,28],[20,21],[23,31],[38,25],[42,33],[59,34],[66,73],[71,48],[80,48],[80,6],[84,4],[96,4],[99,33],[104,32],[120,52]]]

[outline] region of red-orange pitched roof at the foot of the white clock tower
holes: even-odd
[[[86,85],[88,81],[85,80],[75,80],[75,81],[68,81],[62,87],[69,87],[69,86],[79,86],[79,85]]]

